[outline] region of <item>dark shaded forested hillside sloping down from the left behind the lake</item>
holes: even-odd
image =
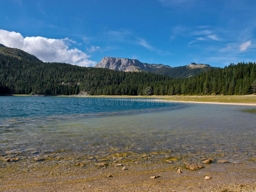
[[[144,87],[157,87],[170,79],[142,72],[19,60],[0,54],[2,94],[4,86],[12,94],[74,95],[83,91],[90,95],[143,95]]]

